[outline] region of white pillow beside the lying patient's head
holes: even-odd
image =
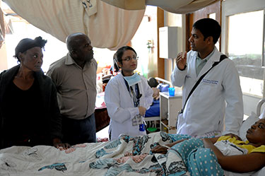
[[[247,134],[247,129],[249,129],[252,124],[257,122],[259,120],[259,117],[254,112],[251,112],[251,115],[242,123],[239,131],[240,138],[243,141],[247,140],[246,134]]]

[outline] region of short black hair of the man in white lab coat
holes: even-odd
[[[220,25],[216,20],[213,20],[211,18],[203,18],[201,20],[197,20],[192,25],[192,28],[200,30],[201,34],[204,35],[204,40],[206,39],[206,37],[213,37],[214,44],[216,44],[218,38],[220,37]]]

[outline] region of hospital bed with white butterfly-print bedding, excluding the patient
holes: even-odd
[[[257,121],[258,115],[264,117],[264,112],[261,113],[264,102],[265,99],[261,100],[257,113],[253,112],[243,122],[240,135]],[[169,135],[161,131],[133,139],[121,136],[117,141],[82,143],[66,151],[52,146],[13,146],[0,150],[0,175],[163,175],[160,163],[148,154],[155,142],[163,145]],[[163,160],[165,157],[155,158]],[[165,162],[172,162],[167,163],[171,167],[179,159],[170,156]],[[264,175],[265,167],[252,174]]]

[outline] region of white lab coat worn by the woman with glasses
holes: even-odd
[[[132,86],[135,91],[135,86]],[[142,94],[140,106],[146,107],[146,110],[153,102],[153,90],[148,86],[146,78],[141,76],[139,90]],[[107,113],[110,116],[111,140],[118,139],[120,134],[130,136],[145,135],[146,131],[139,131],[139,125],[132,126],[132,119],[139,115],[139,108],[134,107],[134,100],[131,98],[124,77],[122,74],[114,76],[105,89],[105,103]]]

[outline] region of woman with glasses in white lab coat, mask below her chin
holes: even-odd
[[[120,134],[140,136],[146,134],[143,116],[153,102],[153,90],[146,78],[134,73],[137,54],[131,47],[121,47],[114,54],[114,63],[121,73],[114,76],[105,89],[105,103],[110,116],[110,140]],[[139,129],[141,127],[141,129]]]

